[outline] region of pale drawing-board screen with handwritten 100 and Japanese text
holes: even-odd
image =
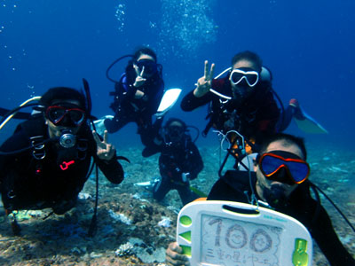
[[[280,227],[212,215],[202,215],[201,223],[201,262],[231,266],[280,265]]]

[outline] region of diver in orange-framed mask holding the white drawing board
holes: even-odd
[[[251,174],[227,171],[212,187],[207,200],[229,200],[250,203],[253,199],[261,206],[269,206],[296,218],[310,231],[312,238],[332,266],[353,266],[355,260],[338,239],[327,211],[319,200],[311,196],[312,183],[306,160],[304,141],[287,134],[277,134],[264,141]],[[254,191],[254,193],[253,193]],[[170,243],[167,261],[185,265],[181,247]]]

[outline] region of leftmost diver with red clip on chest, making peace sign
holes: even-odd
[[[7,214],[43,208],[65,214],[75,207],[90,176],[91,159],[111,183],[122,182],[121,158],[107,143],[107,132],[101,139],[91,131],[89,96],[56,87],[47,90],[34,109],[0,147],[0,192]],[[14,233],[20,233],[16,220],[12,222]]]

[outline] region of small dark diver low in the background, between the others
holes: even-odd
[[[161,201],[170,190],[177,190],[183,205],[199,198],[191,191],[189,180],[203,168],[201,154],[187,132],[184,121],[170,118],[162,129],[164,145],[159,157],[161,178],[154,184],[153,197]]]

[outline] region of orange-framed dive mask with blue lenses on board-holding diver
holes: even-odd
[[[310,166],[294,153],[272,151],[258,155],[256,161],[263,175],[285,184],[301,184],[310,175]]]

